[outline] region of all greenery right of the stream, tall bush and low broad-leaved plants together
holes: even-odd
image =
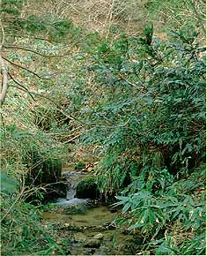
[[[119,222],[142,231],[143,252],[204,253],[198,237],[205,199],[196,194],[204,182],[195,182],[195,174],[199,169],[204,177],[205,49],[197,36],[182,29],[162,42],[150,26],[141,36],[102,42],[90,67],[101,99],[92,106],[88,118],[96,125],[85,142],[102,145],[100,192],[122,194]]]

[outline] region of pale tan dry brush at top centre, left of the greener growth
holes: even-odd
[[[147,22],[144,13],[144,4],[147,2],[147,0],[29,1],[23,15],[31,12],[37,15],[47,13],[54,19],[72,19],[74,24],[104,36],[108,35],[112,25],[120,26],[132,34],[141,31]]]

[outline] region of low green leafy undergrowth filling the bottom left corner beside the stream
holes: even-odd
[[[64,255],[55,236],[50,235],[52,230],[41,225],[41,212],[19,195],[11,197],[1,192],[1,231],[4,255]]]

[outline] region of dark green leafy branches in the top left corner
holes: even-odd
[[[72,25],[70,19],[54,19],[48,14],[42,16],[36,14],[29,14],[22,18],[21,10],[26,4],[23,0],[4,0],[2,9],[0,10],[3,18],[7,24],[4,28],[6,31],[12,30],[13,33],[18,33],[22,30],[24,34],[41,34],[44,33],[50,36],[51,40],[58,40],[68,34],[71,38],[77,38],[80,34],[78,27]],[[13,34],[15,36],[15,34]]]

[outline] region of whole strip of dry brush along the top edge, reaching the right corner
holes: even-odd
[[[92,32],[98,32],[107,37],[110,28],[117,26],[127,34],[137,34],[143,31],[149,22],[154,24],[154,32],[163,36],[163,30],[181,27],[192,20],[197,22],[202,30],[204,27],[203,0],[178,1],[176,4],[160,2],[154,11],[149,11],[149,6],[156,1],[149,0],[30,0],[27,2],[23,17],[28,13],[36,15],[46,14],[48,19],[71,19],[80,27],[85,27]],[[179,5],[179,4],[178,4]],[[160,7],[161,6],[161,7]],[[159,8],[160,7],[160,8]],[[203,34],[203,32],[202,32]],[[166,38],[166,34],[164,35]],[[201,35],[203,40],[203,35]]]

